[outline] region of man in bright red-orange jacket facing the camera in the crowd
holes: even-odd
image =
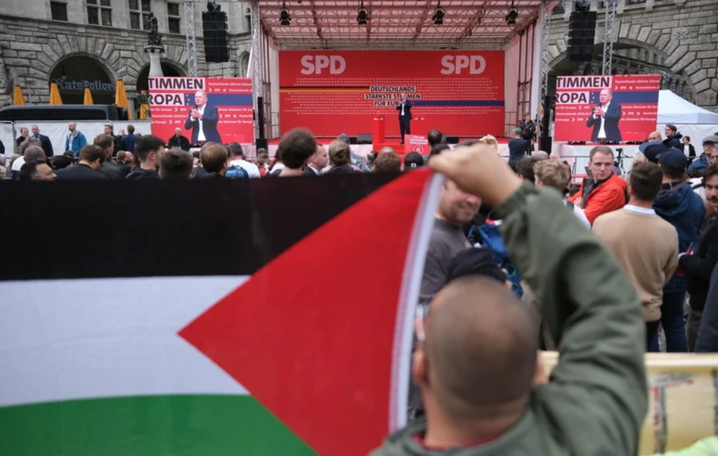
[[[596,217],[617,211],[626,204],[626,182],[613,171],[613,151],[596,146],[589,154],[592,178],[584,179],[581,189],[569,201],[581,207],[591,224]]]

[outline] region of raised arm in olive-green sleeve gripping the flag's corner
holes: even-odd
[[[540,407],[559,429],[586,429],[561,435],[582,454],[635,455],[648,404],[638,295],[558,195],[521,186],[484,149],[459,148],[429,166],[494,204],[503,219],[511,257],[559,343],[551,381],[536,388]]]

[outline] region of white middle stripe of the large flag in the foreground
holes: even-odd
[[[177,331],[248,276],[0,282],[0,407],[248,394]]]

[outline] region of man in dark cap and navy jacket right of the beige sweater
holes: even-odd
[[[678,149],[668,149],[658,156],[658,166],[663,172],[663,184],[653,200],[653,209],[659,217],[673,225],[678,232],[679,254],[686,252],[696,239],[703,224],[706,207],[696,192],[685,181],[688,158]],[[688,351],[683,305],[688,283],[686,277],[674,274],[663,287],[661,303],[661,325],[666,333],[666,351],[678,353]],[[653,342],[650,351],[658,351],[658,341]]]

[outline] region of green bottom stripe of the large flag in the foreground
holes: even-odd
[[[251,396],[130,396],[0,408],[12,456],[317,456]]]

